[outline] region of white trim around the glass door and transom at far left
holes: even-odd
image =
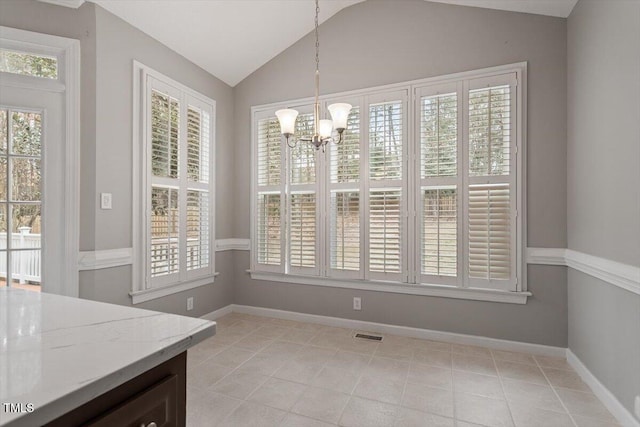
[[[46,285],[49,292],[78,297],[80,246],[80,41],[0,26],[0,46],[58,58],[58,78],[47,79],[0,72],[5,86],[65,94],[64,255],[63,283]],[[44,251],[45,242],[42,250]]]

